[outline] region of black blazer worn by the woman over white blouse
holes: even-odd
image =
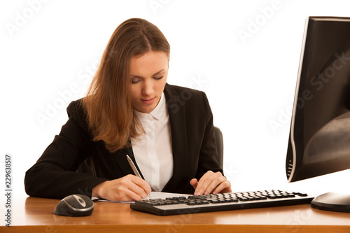
[[[217,161],[213,115],[204,92],[165,85],[172,132],[174,172],[163,192],[193,193],[192,178],[221,171]],[[110,153],[103,141],[92,141],[80,100],[67,108],[69,120],[25,176],[28,195],[62,199],[71,194],[91,197],[92,188],[107,180],[134,174],[126,155],[132,148]],[[92,175],[76,172],[85,162]]]

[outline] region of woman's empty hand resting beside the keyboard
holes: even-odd
[[[219,192],[232,192],[231,183],[226,179],[221,172],[214,173],[213,171],[207,171],[200,181],[193,178],[190,184],[195,188],[195,195],[208,195],[210,193]]]

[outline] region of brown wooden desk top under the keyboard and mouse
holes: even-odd
[[[6,213],[4,200],[1,213]],[[11,202],[11,227],[1,221],[0,232],[350,232],[350,213],[319,211],[308,204],[154,216],[133,211],[129,204],[95,202],[91,216],[64,217],[52,213],[57,199],[24,195]]]

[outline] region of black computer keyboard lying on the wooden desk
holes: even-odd
[[[186,213],[230,211],[273,206],[309,204],[314,197],[306,193],[283,190],[263,190],[255,192],[230,192],[167,199],[144,199],[130,204],[135,211],[144,211],[158,216]]]

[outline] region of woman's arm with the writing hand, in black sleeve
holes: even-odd
[[[107,150],[97,149],[97,143],[92,141],[87,126],[84,125],[83,111],[76,104],[73,102],[67,108],[68,122],[36,164],[27,171],[27,194],[57,199],[71,194],[83,194],[120,201],[147,196],[151,187],[146,181],[137,176],[125,176],[123,171],[118,171],[117,164],[111,163],[113,155],[107,154]],[[101,146],[104,147],[99,143]],[[92,153],[94,160],[99,160],[99,176],[104,178],[76,172],[78,166]],[[109,165],[111,167],[106,167]]]

